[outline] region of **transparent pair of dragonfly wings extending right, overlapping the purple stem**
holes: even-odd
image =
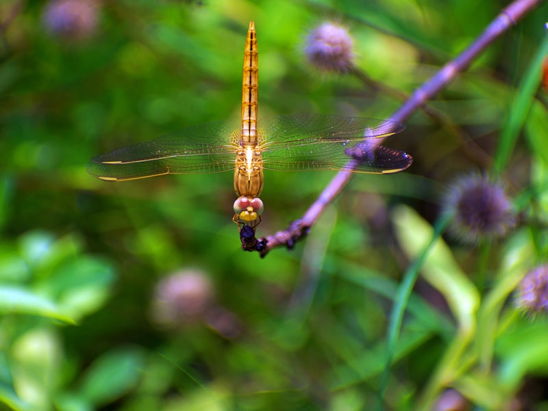
[[[266,137],[263,166],[269,170],[336,170],[356,173],[396,173],[413,159],[403,151],[379,145],[380,138],[401,132],[403,123],[298,114],[262,119]],[[357,160],[349,167],[349,160]]]

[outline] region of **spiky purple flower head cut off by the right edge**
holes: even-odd
[[[519,283],[516,306],[528,314],[548,312],[548,265],[538,266]]]

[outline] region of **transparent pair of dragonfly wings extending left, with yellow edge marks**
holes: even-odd
[[[87,169],[91,175],[107,181],[232,170],[236,158],[234,141],[239,138],[237,130],[238,123],[226,121],[186,127],[99,155],[92,158]]]

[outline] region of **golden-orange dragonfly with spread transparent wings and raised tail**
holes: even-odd
[[[88,172],[107,182],[167,174],[234,171],[232,221],[255,234],[264,204],[263,170],[334,170],[397,173],[412,163],[403,151],[379,144],[401,132],[403,123],[325,114],[266,116],[258,119],[258,49],[255,23],[245,42],[241,121],[186,127],[140,142],[88,163]],[[354,160],[354,161],[350,161]]]

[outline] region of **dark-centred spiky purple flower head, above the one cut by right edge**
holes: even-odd
[[[515,222],[503,187],[482,175],[456,180],[443,199],[443,209],[453,216],[451,233],[467,243],[504,236]]]

